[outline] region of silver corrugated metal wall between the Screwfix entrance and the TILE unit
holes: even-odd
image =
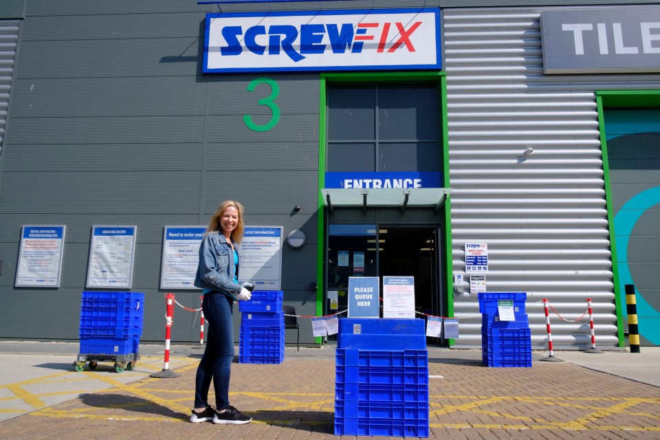
[[[571,321],[592,298],[597,344],[615,347],[594,91],[657,89],[660,75],[544,76],[540,12],[443,10],[453,269],[465,271],[465,242],[486,242],[487,290],[527,292],[533,346],[547,347],[547,298],[565,318],[550,312],[554,346],[587,347],[588,317]],[[454,309],[456,347],[480,346],[477,298],[456,297]]]

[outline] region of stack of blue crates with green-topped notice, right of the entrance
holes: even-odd
[[[498,301],[514,306],[514,321],[500,320]],[[481,312],[481,360],[486,366],[531,367],[531,331],[525,313],[527,294],[492,292],[479,294]]]

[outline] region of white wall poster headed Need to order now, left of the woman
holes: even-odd
[[[161,289],[197,289],[192,283],[206,226],[166,226],[163,236]]]

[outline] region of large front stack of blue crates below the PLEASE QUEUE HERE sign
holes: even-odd
[[[335,434],[428,437],[428,433],[424,320],[340,319]]]

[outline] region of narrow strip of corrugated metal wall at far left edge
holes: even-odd
[[[19,23],[21,23],[19,20],[0,20],[0,158],[12,89],[14,58],[19,40]]]

